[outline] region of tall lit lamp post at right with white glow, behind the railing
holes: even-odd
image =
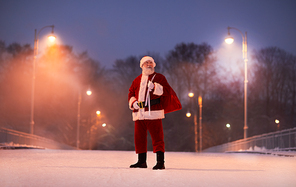
[[[243,59],[245,62],[245,80],[244,80],[244,139],[248,137],[248,124],[247,124],[247,84],[248,84],[248,79],[247,79],[247,72],[248,72],[248,45],[247,45],[247,32],[245,32],[245,35],[238,30],[237,28],[234,27],[227,27],[228,29],[228,36],[225,38],[225,42],[227,44],[232,44],[234,39],[233,37],[230,36],[230,29],[237,30],[239,33],[242,35],[242,53],[243,53]]]

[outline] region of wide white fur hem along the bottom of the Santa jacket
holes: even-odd
[[[163,119],[164,118],[164,110],[153,110],[145,111],[144,109],[140,109],[137,112],[133,112],[133,121],[137,120],[154,120],[154,119]]]

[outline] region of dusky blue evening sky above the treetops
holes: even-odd
[[[60,44],[108,68],[148,51],[164,57],[181,42],[219,51],[227,26],[247,31],[249,54],[277,46],[296,55],[295,0],[0,0],[0,40],[7,45],[33,46],[34,30],[52,24]],[[239,32],[231,34],[241,48]]]

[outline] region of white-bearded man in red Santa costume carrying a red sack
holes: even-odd
[[[162,119],[166,113],[182,108],[165,76],[154,71],[155,66],[152,57],[144,56],[140,60],[142,74],[133,81],[129,89],[128,101],[135,121],[134,140],[138,154],[138,162],[131,165],[131,168],[147,168],[147,131],[149,131],[157,160],[153,169],[165,169]]]

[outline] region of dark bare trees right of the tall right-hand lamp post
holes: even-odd
[[[256,119],[261,120],[261,128],[257,126],[255,133],[276,130],[276,118],[280,119],[281,128],[292,127],[295,123],[292,117],[295,108],[295,56],[277,47],[269,47],[255,51],[253,60],[251,115],[254,123]],[[290,120],[287,120],[288,116]]]

